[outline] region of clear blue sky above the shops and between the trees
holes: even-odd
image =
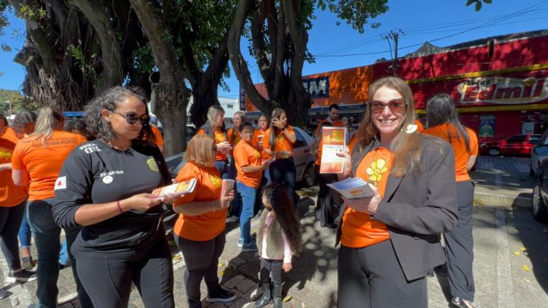
[[[308,49],[313,55],[324,56],[316,57],[316,63],[305,64],[303,75],[369,65],[381,57],[390,59],[388,42],[382,40],[382,35],[395,29],[405,32],[405,36],[399,40],[399,46],[403,47],[399,49],[399,55],[405,55],[426,41],[444,47],[477,38],[548,28],[548,1],[494,0],[493,4],[484,5],[480,12],[475,12],[473,7],[466,7],[465,2],[388,1],[388,12],[373,20],[382,26],[378,29],[366,28],[364,34],[359,34],[345,22],[337,26],[334,14],[318,11],[309,32]],[[24,41],[22,38],[12,38],[12,30],[24,29],[24,25],[14,16],[10,16],[10,23],[10,28],[5,29],[1,39],[10,44],[13,51],[0,51],[0,71],[4,73],[0,76],[0,88],[17,90],[23,82],[25,70],[12,60]],[[242,41],[242,52],[246,53],[251,66],[253,81],[262,82],[255,62],[247,55],[247,42]],[[230,91],[220,90],[219,95],[237,98],[239,86],[236,77],[233,75],[227,79],[227,84]]]

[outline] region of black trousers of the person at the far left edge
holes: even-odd
[[[0,207],[0,248],[10,270],[21,268],[19,259],[19,227],[25,214],[27,201],[14,207]]]

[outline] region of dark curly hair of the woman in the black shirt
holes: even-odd
[[[107,143],[116,140],[116,134],[112,130],[112,126],[108,121],[103,119],[101,111],[103,109],[110,111],[116,110],[116,107],[118,107],[120,103],[123,103],[127,97],[135,97],[142,101],[142,103],[145,104],[145,114],[149,116],[149,108],[142,95],[121,86],[109,88],[97,95],[88,103],[88,105],[86,105],[86,115],[84,116],[84,119],[86,120],[86,127],[88,128],[90,136],[101,139]],[[154,142],[154,139],[154,134],[150,126],[143,125],[139,136],[134,140],[134,143],[147,144],[147,140]]]

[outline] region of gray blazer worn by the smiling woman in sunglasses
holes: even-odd
[[[352,175],[366,153],[379,144],[356,144],[352,152]],[[384,222],[408,281],[424,277],[428,268],[445,263],[439,234],[457,223],[455,154],[440,138],[423,136],[419,170],[408,169],[403,177],[390,175],[375,220]],[[342,233],[339,224],[336,245]]]

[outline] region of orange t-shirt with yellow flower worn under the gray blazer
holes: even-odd
[[[394,155],[386,148],[377,148],[365,155],[358,169],[356,177],[370,183],[377,183],[379,194],[384,197],[388,175],[394,163]],[[386,224],[371,219],[371,216],[361,211],[347,208],[343,215],[343,235],[340,242],[351,248],[363,248],[388,240],[390,233]]]

